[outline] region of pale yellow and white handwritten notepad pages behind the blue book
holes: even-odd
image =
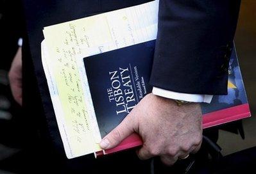
[[[158,0],[44,28],[42,63],[67,157],[101,150],[83,58],[154,40]]]

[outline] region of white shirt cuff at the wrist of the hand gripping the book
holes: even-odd
[[[175,91],[164,90],[162,88],[153,87],[152,93],[160,97],[168,99],[183,100],[187,102],[205,102],[210,103],[213,95],[179,93]]]

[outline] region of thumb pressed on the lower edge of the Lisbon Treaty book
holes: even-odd
[[[103,149],[114,148],[115,146],[119,145],[123,139],[127,138],[135,132],[135,127],[137,124],[137,119],[133,116],[133,112],[127,115],[124,120],[113,129],[105,138],[101,140],[99,145]]]

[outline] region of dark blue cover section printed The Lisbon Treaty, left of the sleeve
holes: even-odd
[[[155,40],[84,58],[101,137],[150,93]]]

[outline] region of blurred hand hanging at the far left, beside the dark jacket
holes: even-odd
[[[22,105],[22,61],[21,47],[19,47],[9,72],[10,86],[12,95],[16,102]]]

